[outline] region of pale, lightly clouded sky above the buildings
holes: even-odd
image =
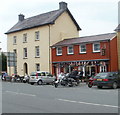
[[[2,0],[0,2],[0,48],[7,51],[7,35],[4,34],[18,22],[18,15],[25,18],[59,9],[59,2],[68,8],[79,24],[79,36],[113,33],[118,26],[118,2],[120,0]]]

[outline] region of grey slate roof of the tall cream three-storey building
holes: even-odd
[[[54,10],[50,11],[47,13],[43,13],[34,17],[30,17],[27,19],[24,19],[23,21],[18,21],[17,24],[15,24],[10,30],[8,30],[5,34],[21,31],[21,30],[26,30],[26,29],[31,29],[43,25],[48,25],[48,24],[54,24],[55,20],[63,13],[67,11],[71,19],[73,20],[74,24],[77,27],[77,30],[81,30],[79,25],[77,24],[76,20],[72,16],[71,12],[69,9],[59,9],[59,10]]]

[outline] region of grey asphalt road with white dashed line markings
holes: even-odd
[[[2,82],[2,113],[118,113],[118,89]]]

